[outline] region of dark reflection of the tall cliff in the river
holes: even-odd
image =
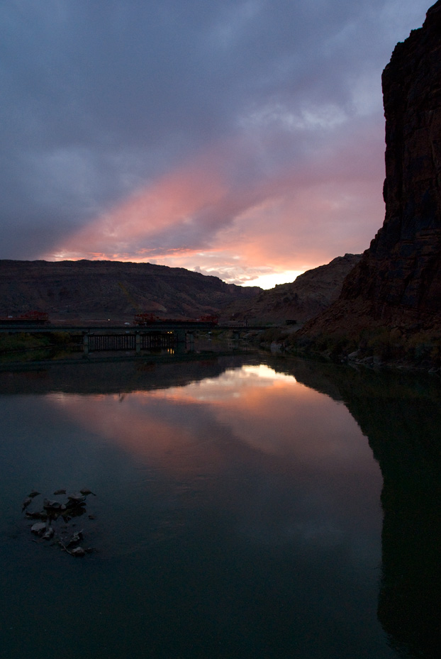
[[[286,370],[286,363],[282,368]],[[403,657],[440,656],[439,380],[312,362],[296,362],[288,371],[299,382],[342,400],[369,439],[384,479],[379,621]]]

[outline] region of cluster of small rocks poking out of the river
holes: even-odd
[[[86,553],[93,551],[91,547],[84,548],[81,546],[83,530],[73,531],[69,527],[69,522],[86,513],[86,497],[89,494],[94,494],[94,492],[86,487],[80,489],[79,492],[69,494],[65,489],[57,489],[53,494],[55,496],[66,494],[67,499],[65,502],[60,502],[57,499],[43,499],[43,509],[30,511],[28,506],[36,497],[40,497],[40,494],[37,490],[33,490],[23,501],[22,512],[24,512],[26,519],[35,520],[30,527],[30,532],[42,540],[51,540],[53,545],[60,546],[63,551],[71,556],[84,556]],[[94,515],[89,515],[89,519],[94,519]],[[62,526],[57,524],[60,520],[64,523]]]

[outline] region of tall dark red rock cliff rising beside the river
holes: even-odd
[[[439,369],[441,0],[398,43],[383,78],[386,217],[340,298],[297,346],[334,358]]]

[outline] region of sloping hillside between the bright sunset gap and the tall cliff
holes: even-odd
[[[320,314],[340,295],[343,280],[361,255],[337,256],[328,265],[303,272],[291,284],[280,284],[252,299],[240,299],[226,310],[230,318],[255,323],[304,323]]]

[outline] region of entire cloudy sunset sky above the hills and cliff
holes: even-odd
[[[0,0],[0,258],[264,288],[384,221],[381,72],[430,0]]]

